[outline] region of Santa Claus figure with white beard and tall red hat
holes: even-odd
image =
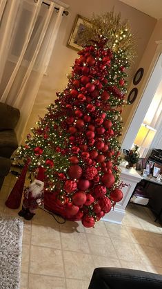
[[[31,220],[35,215],[35,210],[43,201],[43,167],[39,167],[37,179],[35,179],[29,187],[23,192],[23,205],[19,216],[23,216],[26,220]]]

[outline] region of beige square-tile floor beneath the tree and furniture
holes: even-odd
[[[18,216],[19,209],[5,206],[15,181],[9,174],[3,183],[1,214]],[[130,204],[123,225],[99,221],[92,229],[59,224],[42,209],[24,221],[21,289],[88,289],[94,268],[102,266],[162,274],[162,227],[147,207]]]

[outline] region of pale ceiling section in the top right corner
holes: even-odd
[[[156,19],[162,18],[161,0],[119,0]]]

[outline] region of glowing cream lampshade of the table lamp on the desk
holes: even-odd
[[[141,127],[134,140],[134,144],[148,149],[152,143],[155,133],[156,129],[149,127],[147,124],[141,124]]]

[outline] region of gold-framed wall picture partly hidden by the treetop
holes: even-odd
[[[79,41],[79,34],[83,32],[85,27],[83,21],[88,21],[88,19],[81,15],[77,15],[74,21],[74,26],[72,27],[72,32],[68,39],[67,46],[74,50],[81,50],[84,46],[84,44]]]

